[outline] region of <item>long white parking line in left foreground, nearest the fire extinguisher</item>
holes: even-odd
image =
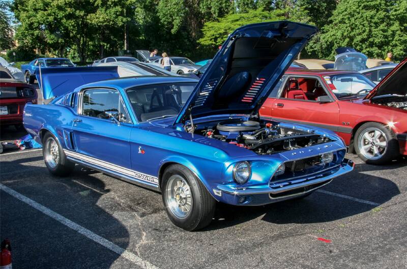
[[[102,236],[97,235],[96,233],[80,226],[79,224],[61,216],[60,214],[50,210],[48,207],[45,207],[42,204],[37,203],[36,201],[31,200],[28,197],[25,197],[24,195],[14,191],[13,189],[10,189],[9,187],[0,184],[0,189],[7,192],[8,194],[14,196],[18,200],[34,207],[36,210],[44,213],[45,215],[51,217],[52,219],[59,221],[60,223],[64,224],[65,226],[77,231],[78,233],[88,237],[90,240],[102,245],[103,247],[123,256],[124,258],[132,261],[134,264],[140,266],[141,268],[146,268],[146,269],[158,269],[157,266],[151,264],[150,262],[143,260],[136,254],[127,251],[118,245],[108,241],[106,238],[103,238]]]

